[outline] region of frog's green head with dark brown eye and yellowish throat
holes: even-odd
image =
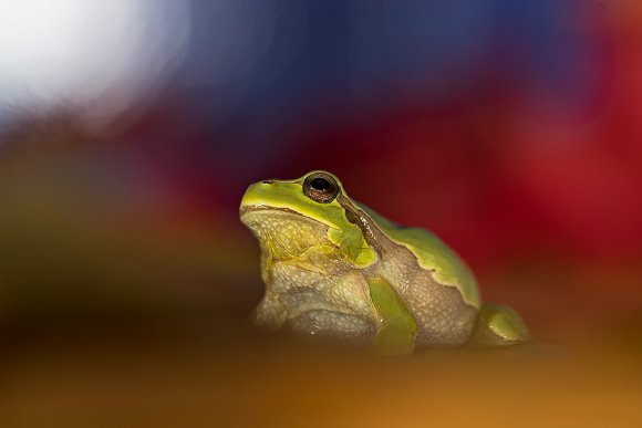
[[[376,255],[354,221],[353,208],[341,181],[315,170],[296,180],[251,185],[241,200],[240,218],[261,249],[278,260],[321,246],[355,265],[367,265]]]

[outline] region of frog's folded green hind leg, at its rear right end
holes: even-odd
[[[514,309],[483,304],[468,340],[470,346],[511,346],[529,341],[528,328]]]

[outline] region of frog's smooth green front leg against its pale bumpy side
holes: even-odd
[[[380,354],[403,355],[413,352],[417,323],[394,289],[379,276],[367,280],[375,309],[376,337],[372,348]]]

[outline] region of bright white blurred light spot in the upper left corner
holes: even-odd
[[[188,34],[180,1],[0,0],[0,105],[113,116],[164,82]]]

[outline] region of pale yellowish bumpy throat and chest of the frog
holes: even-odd
[[[367,344],[375,312],[360,269],[335,251],[329,227],[287,211],[252,210],[242,217],[261,244],[266,294],[259,325]]]

